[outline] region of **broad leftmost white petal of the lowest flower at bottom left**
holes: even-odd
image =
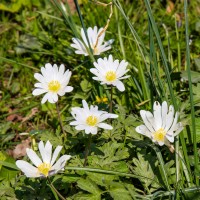
[[[39,177],[38,169],[36,167],[33,167],[30,163],[23,161],[23,160],[17,160],[16,161],[17,167],[24,172],[24,174],[27,177]]]

